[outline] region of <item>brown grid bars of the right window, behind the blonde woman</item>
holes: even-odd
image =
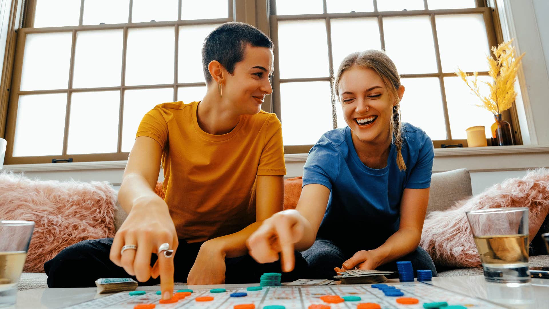
[[[384,38],[384,30],[383,30],[383,18],[389,17],[389,16],[429,16],[430,22],[432,26],[433,31],[433,43],[435,48],[435,55],[436,55],[436,65],[438,71],[436,73],[424,73],[424,74],[401,74],[401,78],[425,78],[425,77],[436,77],[439,79],[440,82],[440,90],[441,90],[441,97],[442,97],[442,110],[444,112],[444,122],[445,122],[445,130],[446,130],[446,140],[438,140],[435,142],[435,147],[439,146],[440,144],[455,144],[456,142],[463,142],[463,140],[453,140],[452,134],[450,130],[450,117],[446,102],[446,91],[444,87],[444,78],[448,76],[456,76],[454,73],[443,73],[442,72],[442,65],[441,65],[441,58],[440,58],[440,51],[439,51],[439,43],[438,43],[438,36],[436,33],[436,23],[435,23],[435,15],[457,15],[457,14],[483,14],[484,16],[484,22],[486,25],[486,36],[488,37],[488,43],[490,46],[496,46],[497,45],[497,39],[495,34],[495,26],[494,22],[491,18],[491,12],[490,8],[486,7],[485,3],[483,1],[477,1],[477,7],[476,8],[469,8],[469,9],[445,9],[445,10],[429,10],[427,0],[423,0],[423,3],[425,5],[424,10],[417,10],[417,11],[393,11],[393,12],[380,12],[378,11],[378,5],[377,0],[373,0],[373,12],[357,12],[357,13],[327,13],[327,1],[323,0],[323,13],[322,14],[306,14],[306,15],[276,15],[276,0],[271,0],[271,38],[273,42],[275,42],[275,55],[278,55],[278,21],[286,21],[286,20],[325,20],[326,23],[326,35],[327,35],[327,46],[328,46],[328,63],[329,63],[329,76],[326,77],[317,77],[317,78],[287,78],[287,79],[281,79],[279,78],[280,70],[279,70],[279,59],[277,56],[275,56],[275,77],[273,78],[273,111],[276,112],[279,119],[281,119],[281,122],[284,121],[282,117],[282,108],[281,108],[281,93],[280,93],[280,85],[284,82],[303,82],[303,81],[331,81],[334,74],[334,64],[333,58],[332,58],[332,37],[331,37],[331,19],[343,19],[343,18],[372,18],[376,17],[378,19],[378,26],[379,26],[379,37],[380,37],[380,45],[382,49],[385,49],[385,38]],[[468,74],[473,74],[473,72],[468,72]],[[488,71],[479,71],[478,75],[480,76],[488,76]],[[331,88],[331,87],[330,87]],[[337,104],[337,100],[334,96],[334,93],[332,89],[330,89],[330,93],[332,93],[332,119],[333,119],[333,128],[337,128],[337,114],[335,109],[335,104]],[[513,107],[514,109],[514,107]],[[512,114],[511,112],[507,111],[504,114],[504,117],[506,119],[511,119]],[[516,122],[512,122],[514,130],[517,130]],[[514,134],[514,138],[516,141],[519,140],[519,135]],[[516,143],[518,144],[518,143]],[[284,146],[284,152],[285,153],[304,153],[309,152],[312,145],[291,145],[291,146]]]

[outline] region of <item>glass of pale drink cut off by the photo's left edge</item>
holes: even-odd
[[[34,222],[0,221],[0,307],[15,304]]]

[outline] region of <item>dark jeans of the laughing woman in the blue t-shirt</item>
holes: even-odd
[[[343,262],[349,260],[357,251],[368,250],[359,249],[359,250],[343,250],[334,242],[317,238],[315,243],[307,249],[306,251],[301,252],[302,256],[307,261],[309,269],[307,271],[307,278],[310,279],[333,279],[334,275],[337,275],[334,271],[334,267],[341,267]],[[396,272],[396,262],[397,261],[410,261],[412,262],[412,267],[415,271],[418,269],[428,269],[433,272],[433,277],[436,277],[436,268],[433,260],[425,250],[421,247],[406,256],[399,258],[396,261],[389,262],[379,266],[377,269],[380,271],[393,271]]]

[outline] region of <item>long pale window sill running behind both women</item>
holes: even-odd
[[[287,165],[300,164],[302,169],[302,164],[307,160],[307,153],[285,154],[284,159]],[[4,170],[15,173],[114,170],[124,169],[126,162],[12,164],[4,165]],[[290,166],[287,166],[287,168]],[[433,172],[456,168],[467,168],[471,172],[485,172],[491,170],[524,170],[536,167],[549,167],[549,145],[436,148]],[[288,174],[292,175],[294,173]]]

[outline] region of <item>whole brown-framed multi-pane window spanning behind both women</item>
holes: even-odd
[[[200,48],[215,26],[239,20],[275,42],[273,95],[286,153],[304,153],[345,126],[330,93],[347,54],[385,49],[406,87],[402,120],[441,144],[493,123],[455,76],[479,71],[501,42],[483,0],[27,0],[17,34],[6,164],[125,160],[156,104],[200,100]],[[9,79],[9,76],[8,76]],[[0,111],[0,115],[1,115]],[[515,140],[514,108],[503,117]],[[0,123],[4,119],[0,119]],[[296,134],[299,132],[299,134]]]

